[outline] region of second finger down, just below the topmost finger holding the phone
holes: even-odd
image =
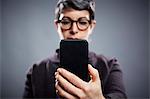
[[[70,82],[68,82],[66,79],[64,79],[61,75],[56,75],[55,78],[59,82],[60,86],[64,88],[67,92],[80,96],[83,94],[82,90],[72,85]]]

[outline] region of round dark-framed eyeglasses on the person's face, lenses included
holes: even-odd
[[[76,22],[78,29],[81,31],[86,30],[91,24],[91,20],[88,20],[86,17],[81,17],[77,21],[74,21],[69,17],[64,17],[62,20],[58,20],[58,23],[60,23],[61,28],[64,30],[71,29],[74,22]]]

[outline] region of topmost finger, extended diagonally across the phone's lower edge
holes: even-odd
[[[64,77],[66,78],[69,82],[71,82],[73,85],[76,87],[83,89],[86,87],[87,83],[80,79],[78,76],[75,74],[63,69],[63,68],[58,68],[57,71]]]

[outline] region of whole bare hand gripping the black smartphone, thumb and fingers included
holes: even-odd
[[[67,99],[104,99],[98,71],[90,64],[88,70],[91,80],[85,82],[73,73],[58,68],[55,73],[57,94]]]

